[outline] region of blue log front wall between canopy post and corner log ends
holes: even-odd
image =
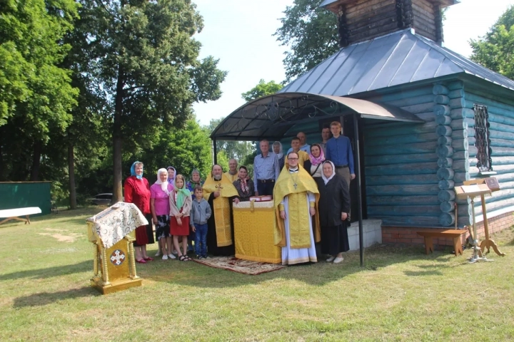
[[[382,219],[383,224],[440,225],[440,135],[433,111],[435,98],[431,85],[366,98],[395,105],[425,120],[376,120],[363,128],[368,218]]]

